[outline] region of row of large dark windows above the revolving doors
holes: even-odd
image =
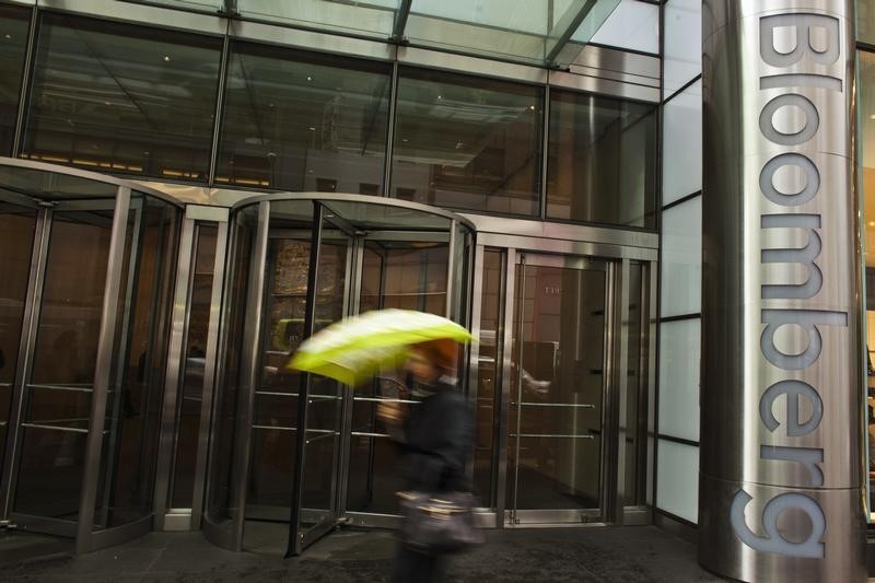
[[[0,22],[18,31],[2,61],[14,73],[31,11],[3,11]],[[556,89],[545,119],[538,84],[395,73],[385,61],[234,38],[223,61],[222,38],[206,34],[50,11],[38,20],[23,158],[215,187],[656,228],[653,106]],[[8,93],[11,153],[18,84]]]

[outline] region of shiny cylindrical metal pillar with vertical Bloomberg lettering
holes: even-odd
[[[704,0],[699,559],[865,581],[851,0]]]

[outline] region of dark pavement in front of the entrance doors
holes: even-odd
[[[230,552],[200,533],[153,533],[119,547],[84,555],[69,551],[22,557],[21,537],[0,539],[0,572],[9,582],[381,582],[387,581],[396,540],[382,530],[342,529],[302,557]],[[18,541],[16,541],[18,539]],[[40,540],[42,543],[42,540]],[[4,548],[5,546],[5,548]],[[264,549],[268,550],[268,549]],[[278,550],[278,549],[270,549]],[[696,548],[653,526],[527,528],[489,532],[489,541],[451,559],[454,582],[723,581],[696,562]]]

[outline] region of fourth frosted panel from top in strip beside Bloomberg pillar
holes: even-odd
[[[660,325],[658,428],[663,435],[699,441],[700,330],[699,318]]]

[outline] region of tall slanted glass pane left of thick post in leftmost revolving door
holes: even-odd
[[[112,212],[52,215],[15,512],[79,514],[112,223]]]

